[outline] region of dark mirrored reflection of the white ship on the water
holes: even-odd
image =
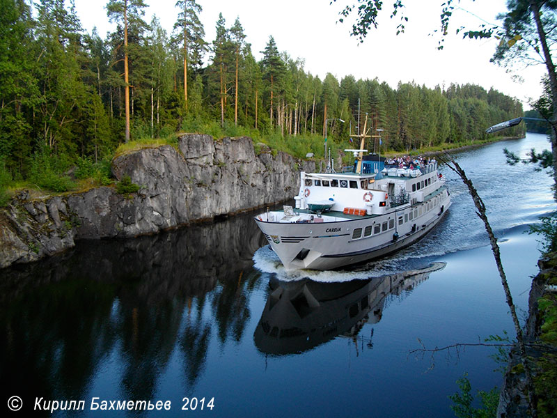
[[[271,280],[253,339],[271,355],[302,353],[336,336],[355,339],[364,324],[381,320],[389,295],[411,291],[445,265],[343,283]]]

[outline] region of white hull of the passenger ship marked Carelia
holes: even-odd
[[[405,205],[378,217],[333,222],[289,224],[266,222],[258,217],[256,222],[287,270],[332,270],[370,261],[421,239],[439,223],[450,206],[450,198],[447,194],[446,199],[439,201],[423,215],[405,222],[405,215],[414,213],[414,210],[419,213],[423,206],[423,203]],[[400,217],[402,224],[398,222]],[[382,225],[389,219],[395,219],[395,228],[367,238],[353,239],[355,229],[365,231],[366,226]],[[398,238],[395,238],[395,233]],[[304,254],[306,250],[307,254]]]

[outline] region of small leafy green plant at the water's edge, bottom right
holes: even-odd
[[[457,385],[460,388],[460,393],[457,392],[450,395],[449,398],[453,401],[450,409],[455,412],[458,418],[493,418],[496,416],[497,404],[499,403],[499,391],[496,387],[489,392],[478,391],[480,397],[481,408],[474,408],[473,396],[471,394],[472,386],[468,375],[464,373],[462,378],[457,380]]]

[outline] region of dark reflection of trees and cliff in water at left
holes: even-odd
[[[47,261],[0,270],[0,375],[29,398],[81,399],[103,362],[119,357],[123,393],[114,396],[148,399],[179,348],[185,380],[195,385],[212,321],[221,343],[242,338],[258,279],[242,272],[261,239],[251,216],[233,217],[81,242]]]

